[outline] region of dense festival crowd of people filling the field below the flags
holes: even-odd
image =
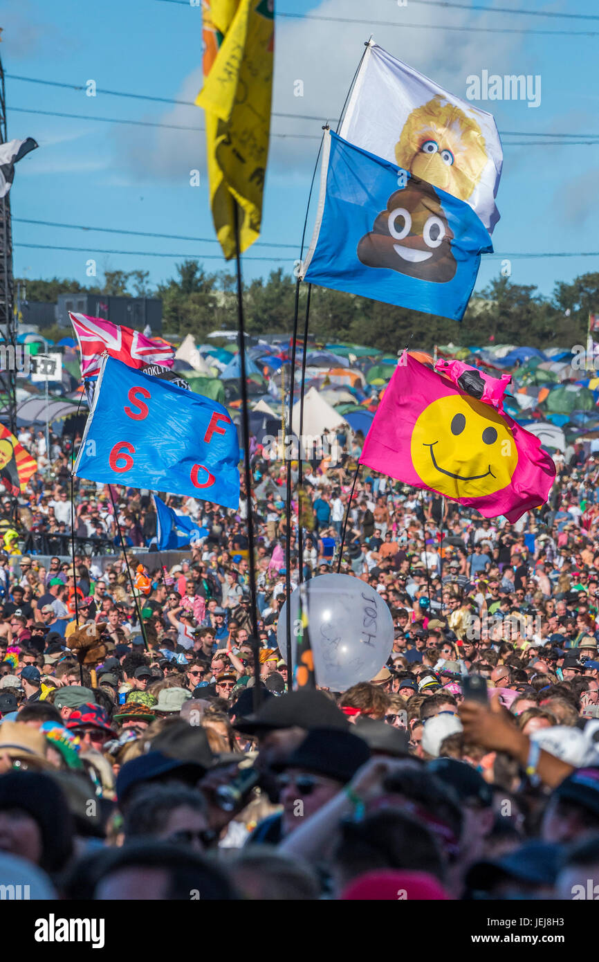
[[[286,465],[254,441],[256,637],[243,476],[237,511],[164,496],[208,530],[173,563],[150,492],[77,479],[71,505],[67,436],[46,452],[21,431],[39,470],[18,521],[1,506],[3,882],[37,899],[587,898],[599,459],[558,453],[548,503],[510,523],[368,468],[350,498],[361,439],[339,435],[299,493],[291,463],[287,530]],[[19,553],[73,524],[112,553]],[[293,691],[289,583],[337,570],[387,602],[387,664]]]

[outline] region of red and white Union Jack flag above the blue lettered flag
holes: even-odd
[[[162,338],[153,341],[131,327],[112,324],[103,317],[88,317],[85,314],[73,314],[72,311],[69,311],[69,317],[81,351],[82,377],[99,374],[100,358],[104,351],[129,367],[145,367],[148,364],[173,366],[175,348],[162,341]]]

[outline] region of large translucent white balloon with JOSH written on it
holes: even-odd
[[[380,671],[393,646],[387,602],[360,578],[319,574],[306,582],[308,631],[316,684],[344,692]],[[301,634],[300,589],[291,595],[291,658]],[[287,661],[287,601],[279,614],[277,644]]]

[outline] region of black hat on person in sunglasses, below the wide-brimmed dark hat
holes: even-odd
[[[370,748],[358,735],[338,728],[312,728],[301,745],[274,768],[279,772],[306,769],[346,784],[369,758]]]

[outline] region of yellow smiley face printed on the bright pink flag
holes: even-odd
[[[429,488],[448,497],[485,497],[512,481],[518,452],[494,408],[464,394],[439,397],[412,431],[412,464]]]

